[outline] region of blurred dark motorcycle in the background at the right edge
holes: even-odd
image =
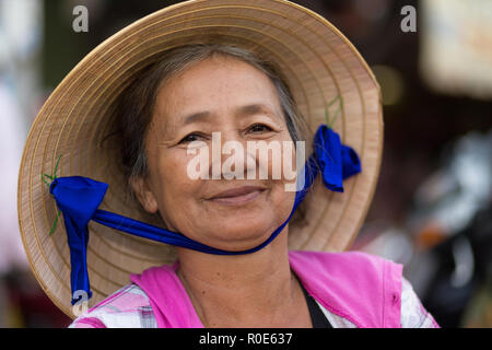
[[[492,326],[492,130],[468,133],[444,154],[415,192],[407,277],[441,326],[476,325],[478,295],[482,326]]]

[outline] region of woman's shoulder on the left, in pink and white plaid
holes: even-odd
[[[69,328],[156,328],[145,292],[127,284],[77,317]]]

